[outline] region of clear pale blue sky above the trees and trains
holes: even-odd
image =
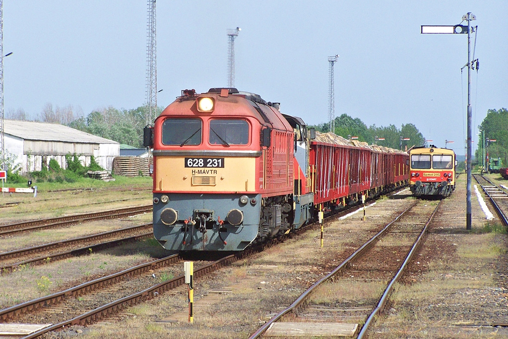
[[[466,138],[466,35],[422,35],[467,12],[478,25],[472,75],[473,135],[488,109],[508,107],[508,1],[158,0],[159,106],[181,89],[227,86],[228,28],[235,86],[281,102],[307,124],[328,120],[328,56],[335,63],[335,115],[367,126],[412,123],[437,146]],[[4,1],[6,114],[39,114],[47,103],[83,115],[146,102],[145,0]],[[475,36],[472,36],[471,46]],[[473,137],[477,141],[477,137]]]

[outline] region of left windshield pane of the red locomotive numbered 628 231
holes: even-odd
[[[201,119],[164,120],[162,124],[162,143],[164,145],[199,145],[201,144]]]

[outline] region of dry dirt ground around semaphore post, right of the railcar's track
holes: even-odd
[[[465,231],[465,180],[462,175],[444,201],[418,263],[396,287],[370,338],[508,337],[506,234],[497,218],[486,220],[474,187],[472,231]]]

